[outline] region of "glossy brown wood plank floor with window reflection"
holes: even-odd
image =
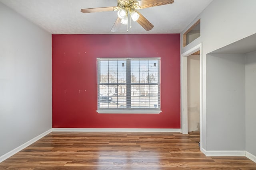
[[[199,133],[52,132],[0,170],[256,170],[246,157],[206,157]]]

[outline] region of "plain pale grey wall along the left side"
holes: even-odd
[[[0,156],[52,127],[51,38],[0,2]]]

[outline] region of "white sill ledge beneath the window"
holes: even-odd
[[[162,112],[162,110],[104,110],[104,109],[100,109],[100,110],[96,110],[98,113],[129,113],[129,114],[159,114]]]

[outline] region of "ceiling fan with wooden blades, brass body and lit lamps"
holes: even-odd
[[[154,25],[150,23],[140,12],[139,9],[150,8],[153,6],[172,4],[174,0],[117,0],[117,6],[103,8],[87,8],[82,9],[83,13],[117,11],[118,18],[114,23],[111,32],[115,32],[122,24],[127,25],[128,31],[128,15],[130,21],[137,21],[146,31],[151,30]]]

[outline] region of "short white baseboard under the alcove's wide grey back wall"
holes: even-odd
[[[244,150],[208,150],[206,156],[245,156]]]

